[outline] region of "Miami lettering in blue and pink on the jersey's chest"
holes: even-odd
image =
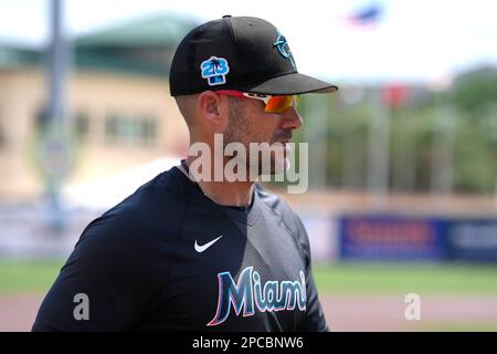
[[[264,287],[261,275],[253,267],[246,267],[235,283],[230,272],[218,274],[219,298],[214,319],[207,325],[223,323],[230,315],[231,306],[240,315],[252,316],[255,309],[260,312],[294,310],[297,305],[300,311],[306,310],[307,292],[304,272],[299,272],[300,281],[267,281]]]

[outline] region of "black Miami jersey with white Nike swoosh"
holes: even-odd
[[[260,185],[252,199],[158,175],[85,228],[33,331],[328,331],[300,219]]]

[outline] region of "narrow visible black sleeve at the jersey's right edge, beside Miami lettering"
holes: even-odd
[[[304,322],[300,324],[299,330],[303,332],[328,332],[329,327],[326,322],[325,313],[319,302],[316,283],[314,281],[309,238],[300,218],[297,215],[295,215],[295,218],[297,219],[299,240],[306,258],[305,278],[307,291],[307,309]]]

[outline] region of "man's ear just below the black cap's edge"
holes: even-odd
[[[197,98],[201,118],[214,132],[224,132],[228,125],[228,100],[213,91],[204,91]]]

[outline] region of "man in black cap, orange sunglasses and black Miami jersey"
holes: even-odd
[[[288,167],[296,95],[337,87],[297,73],[273,24],[224,17],[179,44],[170,90],[191,146],[208,149],[86,227],[33,330],[328,331],[300,219],[248,177]],[[221,155],[221,173],[236,158],[240,178],[219,179],[220,136],[279,148],[268,166]]]

